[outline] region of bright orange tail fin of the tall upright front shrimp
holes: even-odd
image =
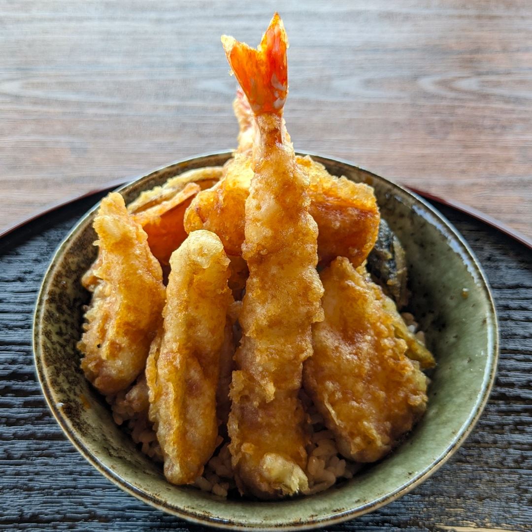
[[[281,114],[288,94],[288,38],[279,13],[273,15],[256,49],[227,35],[222,35],[222,44],[255,115]]]

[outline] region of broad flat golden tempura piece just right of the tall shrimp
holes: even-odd
[[[427,378],[395,334],[386,296],[338,257],[321,272],[325,320],[312,329],[304,388],[351,460],[379,460],[425,412]]]

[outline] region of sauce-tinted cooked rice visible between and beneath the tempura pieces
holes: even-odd
[[[418,330],[419,326],[413,315],[403,312],[401,316],[411,332],[424,345],[425,334]],[[300,398],[307,413],[307,430],[310,437],[310,443],[306,447],[309,458],[305,468],[309,489],[304,495],[312,495],[330,488],[338,480],[353,478],[363,464],[345,460],[339,454],[334,434],[325,426],[323,417],[311,398],[303,390],[300,392]],[[114,422],[126,427],[142,453],[162,463],[161,446],[157,442],[153,423],[148,418],[148,389],[144,376],[127,390],[107,396],[106,400],[111,405]],[[227,497],[231,490],[236,493],[228,442],[215,451],[205,465],[203,475],[196,478],[194,486],[219,497]]]

